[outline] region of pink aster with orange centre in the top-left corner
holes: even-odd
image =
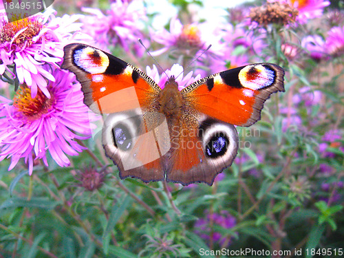
[[[56,18],[53,12],[50,8],[12,23],[8,23],[6,16],[0,17],[0,74],[7,72],[12,78],[17,74],[17,80],[31,89],[33,98],[38,89],[50,97],[47,80],[55,78],[43,65],[58,67],[63,47],[76,39],[71,32],[80,30],[80,24],[74,23],[80,15]]]

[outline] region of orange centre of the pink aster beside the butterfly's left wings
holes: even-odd
[[[31,89],[24,84],[14,96],[13,106],[28,120],[36,120],[43,114],[47,114],[53,103],[54,98],[47,98],[41,89],[38,89],[36,97],[32,98]]]

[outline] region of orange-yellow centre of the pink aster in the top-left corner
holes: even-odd
[[[32,44],[33,37],[39,34],[42,27],[42,23],[36,21],[35,17],[28,17],[19,21],[13,21],[12,23],[5,22],[1,28],[0,42],[11,42],[17,32],[25,29],[15,37],[13,44],[18,47],[23,47],[26,43],[27,46],[30,46]]]

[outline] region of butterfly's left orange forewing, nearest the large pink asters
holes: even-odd
[[[61,67],[76,74],[92,111],[111,114],[156,104],[160,87],[136,67],[89,45],[69,44],[64,51]]]

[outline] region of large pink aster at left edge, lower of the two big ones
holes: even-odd
[[[11,158],[9,170],[24,158],[31,174],[34,160],[47,166],[47,152],[59,166],[68,166],[67,155],[83,150],[75,140],[91,135],[88,107],[74,74],[55,69],[52,76],[55,81],[46,87],[50,98],[40,89],[32,98],[25,85],[13,101],[0,96],[0,161]]]

